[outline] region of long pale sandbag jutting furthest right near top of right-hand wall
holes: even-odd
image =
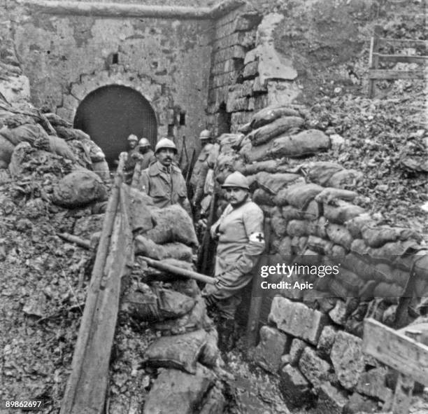
[[[320,130],[306,130],[299,134],[275,138],[269,144],[271,158],[301,157],[327,151],[330,148],[330,139]]]

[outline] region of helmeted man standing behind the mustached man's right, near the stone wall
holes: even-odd
[[[203,130],[199,134],[201,141],[201,152],[194,163],[192,177],[190,177],[190,188],[192,188],[192,205],[195,208],[199,207],[199,204],[204,197],[204,183],[206,174],[209,170],[208,166],[208,155],[213,148],[211,143],[211,132],[209,130]]]

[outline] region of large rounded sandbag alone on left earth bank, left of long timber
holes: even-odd
[[[92,171],[76,170],[67,174],[54,187],[52,202],[62,207],[83,207],[107,199],[107,189]]]

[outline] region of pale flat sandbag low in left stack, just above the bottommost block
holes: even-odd
[[[145,363],[150,366],[178,368],[196,373],[197,361],[206,345],[207,333],[203,329],[176,336],[163,336],[145,350]]]

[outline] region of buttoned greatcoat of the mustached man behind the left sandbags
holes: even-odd
[[[179,204],[191,214],[185,179],[176,165],[166,167],[159,161],[152,163],[141,172],[140,186],[150,195],[155,206],[163,208]]]

